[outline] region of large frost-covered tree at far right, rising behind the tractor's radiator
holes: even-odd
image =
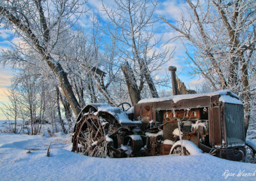
[[[231,89],[244,103],[247,131],[255,92],[255,1],[186,0],[190,19],[170,23],[186,43],[191,68],[213,89]],[[195,55],[189,54],[195,47]]]

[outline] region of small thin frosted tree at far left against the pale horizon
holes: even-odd
[[[38,134],[44,121],[45,87],[38,86],[38,75],[28,75],[24,71],[13,80],[15,82],[9,89],[11,94],[8,96],[12,106],[5,106],[9,108],[6,113],[11,114],[15,122],[18,119],[30,120],[31,134]],[[10,110],[11,107],[13,110]]]

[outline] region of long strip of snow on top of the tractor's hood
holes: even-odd
[[[223,91],[209,92],[209,93],[203,93],[203,94],[182,94],[182,95],[170,96],[165,98],[142,99],[138,103],[154,103],[159,101],[170,101],[170,100],[173,100],[173,103],[177,103],[178,101],[184,100],[184,99],[200,98],[204,96],[211,97],[216,95],[227,96],[228,94],[230,94],[232,97],[235,97],[233,99],[236,99],[236,98],[239,99],[238,96],[236,94],[233,94],[231,91],[223,90]],[[231,96],[228,96],[228,97],[232,98]],[[238,101],[239,100],[237,100],[236,102],[238,103]],[[239,101],[239,104],[241,104],[240,101]]]

